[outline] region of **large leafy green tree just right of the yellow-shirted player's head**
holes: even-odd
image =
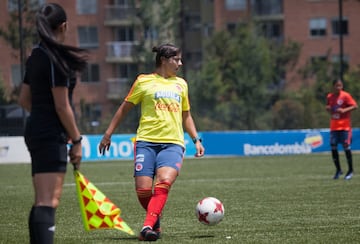
[[[201,128],[271,128],[271,121],[261,120],[270,118],[266,114],[274,96],[279,96],[281,69],[300,50],[299,45],[291,45],[274,45],[259,36],[252,23],[239,26],[234,33],[217,32],[207,45],[202,69],[194,74],[196,82],[190,84]],[[284,53],[291,55],[280,55]],[[273,89],[274,84],[277,89]]]

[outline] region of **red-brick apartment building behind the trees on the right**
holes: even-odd
[[[269,39],[302,44],[296,67],[284,77],[287,89],[301,86],[298,70],[314,59],[360,65],[359,0],[214,0],[214,10],[215,31],[253,18]]]

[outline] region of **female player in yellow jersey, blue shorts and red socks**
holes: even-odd
[[[141,104],[134,176],[137,197],[146,210],[139,235],[139,240],[145,241],[156,241],[160,236],[160,216],[183,162],[183,126],[195,143],[195,156],[202,157],[205,151],[190,113],[187,83],[176,76],[182,65],[180,49],[163,44],[153,52],[157,53],[155,72],[137,77],[99,145],[101,153],[109,150],[115,128]]]

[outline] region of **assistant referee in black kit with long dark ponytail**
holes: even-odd
[[[86,66],[85,50],[64,45],[67,30],[64,9],[43,5],[36,15],[40,43],[26,62],[19,104],[30,112],[25,143],[31,156],[35,202],[30,211],[30,243],[54,241],[55,210],[66,172],[67,156],[79,167],[81,135],[70,104],[71,74]],[[67,143],[72,142],[68,152]]]

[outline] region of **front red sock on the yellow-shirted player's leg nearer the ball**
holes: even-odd
[[[147,208],[144,226],[154,226],[168,199],[170,187],[169,182],[160,182],[155,185],[154,194]]]

